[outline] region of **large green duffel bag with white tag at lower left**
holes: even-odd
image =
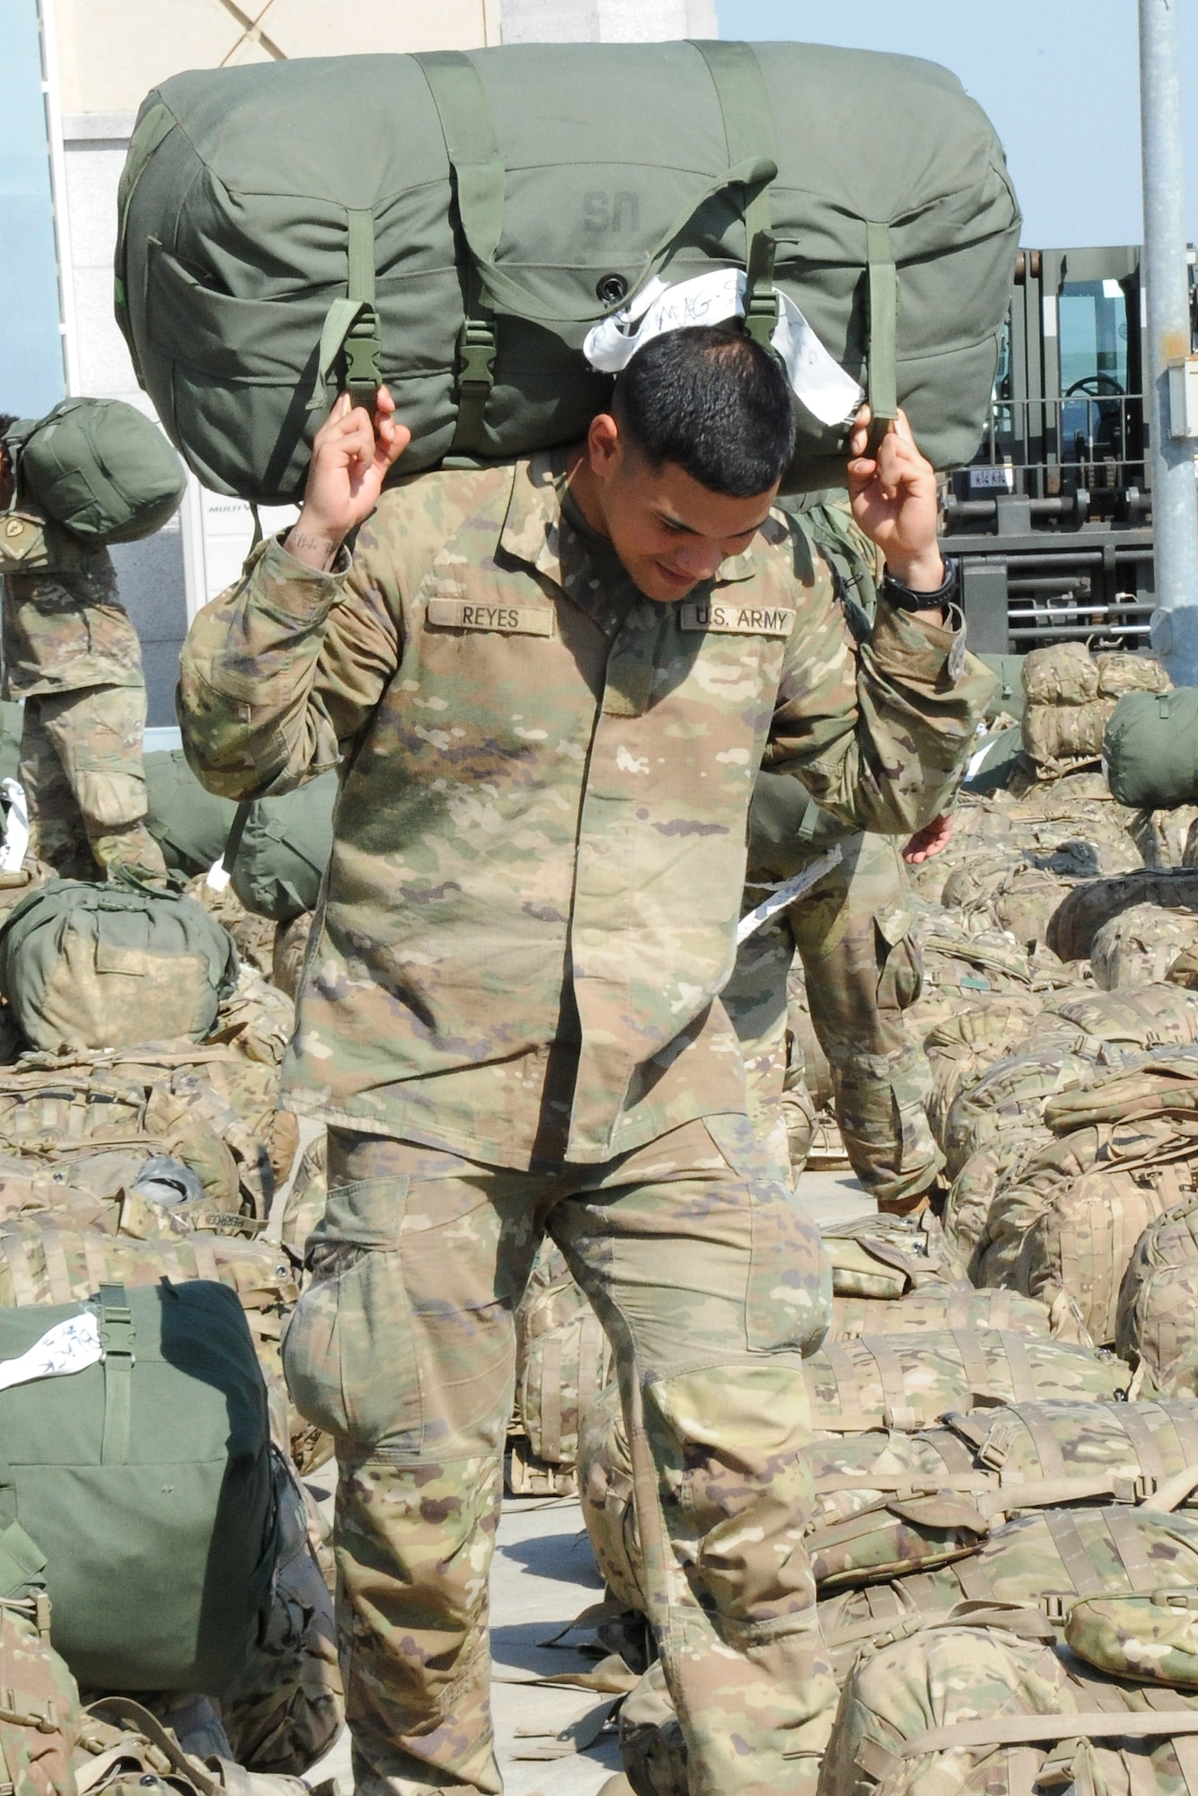
[[[84,1685],[221,1695],[257,1643],[277,1552],[266,1387],[237,1295],[163,1279],[4,1309],[0,1370],[25,1378],[0,1390],[0,1595],[45,1586]]]

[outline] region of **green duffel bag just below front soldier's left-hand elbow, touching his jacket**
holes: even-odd
[[[233,860],[233,891],[246,911],[293,923],[316,909],[332,855],[332,806],[338,776],[322,774],[295,792],[250,806]]]

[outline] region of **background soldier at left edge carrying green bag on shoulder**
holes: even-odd
[[[0,418],[0,431],[13,418]],[[0,449],[0,510],[13,471]],[[18,778],[29,850],[65,878],[117,869],[165,885],[145,828],[142,650],[108,550],[88,548],[22,501],[0,517],[4,697],[23,699]]]

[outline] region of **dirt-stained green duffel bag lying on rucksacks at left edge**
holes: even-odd
[[[133,1047],[212,1029],[237,948],[178,893],[50,880],[0,927],[0,993],[32,1047]]]

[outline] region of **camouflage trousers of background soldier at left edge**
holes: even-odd
[[[18,779],[29,805],[29,850],[63,878],[128,869],[167,884],[162,848],[144,823],[144,729],[145,688],[90,686],[25,699]]]

